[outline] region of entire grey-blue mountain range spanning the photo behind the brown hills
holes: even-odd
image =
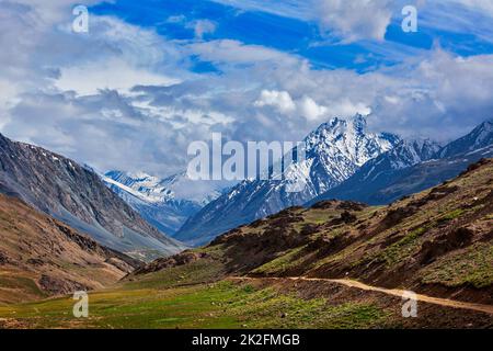
[[[366,120],[333,118],[301,143],[306,159],[282,180],[221,184],[90,167],[0,135],[0,193],[19,197],[111,249],[141,260],[199,246],[291,206],[337,199],[388,204],[493,157],[493,122],[442,147],[367,131]],[[301,185],[299,192],[289,188]],[[223,184],[222,184],[223,185]],[[173,238],[170,238],[169,236]],[[176,239],[176,240],[175,240]]]

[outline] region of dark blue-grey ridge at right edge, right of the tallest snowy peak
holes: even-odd
[[[479,159],[493,157],[492,125],[492,122],[484,122],[439,149],[429,141],[420,144],[423,148],[404,141],[368,161],[353,177],[308,204],[330,199],[387,204],[439,184]]]

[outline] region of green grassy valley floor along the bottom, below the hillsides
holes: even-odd
[[[401,292],[355,281],[182,273],[90,293],[89,318],[73,317],[71,296],[0,306],[0,328],[493,328],[491,305],[419,295],[404,318]]]

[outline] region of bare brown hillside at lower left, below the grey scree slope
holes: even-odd
[[[102,288],[139,264],[0,194],[0,303]]]

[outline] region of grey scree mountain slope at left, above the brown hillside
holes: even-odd
[[[22,199],[104,246],[140,259],[183,249],[144,220],[91,170],[1,135],[0,192]]]

